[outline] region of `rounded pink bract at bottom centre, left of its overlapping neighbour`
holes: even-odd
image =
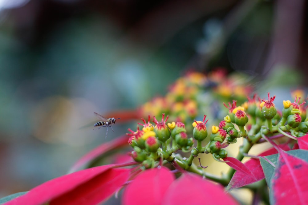
[[[161,204],[165,191],[174,181],[174,175],[168,168],[154,168],[141,172],[125,188],[124,205]]]

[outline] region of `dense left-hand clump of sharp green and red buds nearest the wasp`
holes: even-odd
[[[158,121],[153,116],[153,122],[150,123],[150,116],[148,122],[142,118],[144,124],[143,128],[137,128],[134,132],[128,129],[131,133],[128,142],[134,148],[131,155],[134,160],[143,162],[145,167],[153,167],[155,161],[167,160],[172,161],[172,153],[178,150],[187,151],[191,149],[194,144],[193,138],[188,138],[185,125],[182,122],[167,123],[168,116],[162,114],[162,120]]]

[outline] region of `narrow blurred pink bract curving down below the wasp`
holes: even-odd
[[[69,173],[72,173],[74,171],[79,170],[82,166],[85,164],[91,162],[91,160],[94,160],[96,157],[99,157],[103,155],[106,152],[109,152],[116,148],[121,148],[128,145],[128,136],[123,135],[118,138],[115,138],[114,140],[101,144],[97,148],[93,149],[91,152],[88,152],[86,155],[81,157],[70,169]]]

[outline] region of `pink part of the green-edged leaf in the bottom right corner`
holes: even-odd
[[[308,163],[305,160],[280,152],[271,180],[273,204],[308,204]]]

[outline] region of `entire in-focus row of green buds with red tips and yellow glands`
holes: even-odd
[[[227,157],[228,152],[224,149],[229,144],[237,143],[237,138],[244,137],[249,143],[257,143],[262,135],[275,135],[275,133],[282,133],[285,136],[290,136],[286,132],[290,132],[294,137],[300,137],[308,132],[308,118],[301,115],[301,110],[305,102],[300,104],[300,99],[295,97],[295,101],[283,101],[282,112],[278,111],[274,104],[275,96],[270,97],[268,93],[268,100],[256,100],[256,95],[253,98],[248,98],[248,101],[237,106],[237,101],[229,102],[229,106],[225,103],[225,107],[229,109],[229,113],[219,123],[219,126],[212,126],[209,134],[209,143],[202,146],[202,142],[208,136],[206,127],[206,115],[202,121],[194,120],[192,133],[187,132],[183,122],[167,123],[168,116],[162,114],[162,120],[158,121],[153,116],[155,126],[150,123],[150,116],[148,122],[144,119],[142,130],[137,128],[134,132],[129,129],[131,136],[129,143],[134,148],[132,156],[136,161],[142,161],[147,164],[147,167],[153,166],[155,161],[167,160],[168,162],[182,160],[180,164],[183,168],[191,166],[193,158],[200,153],[210,153],[214,159],[220,160]],[[191,126],[191,125],[190,125]],[[191,129],[188,129],[191,130]],[[192,135],[193,137],[189,136]],[[194,141],[197,146],[193,147]],[[178,150],[187,152],[191,150],[189,158],[179,158],[173,155]],[[178,156],[178,155],[177,155]]]

